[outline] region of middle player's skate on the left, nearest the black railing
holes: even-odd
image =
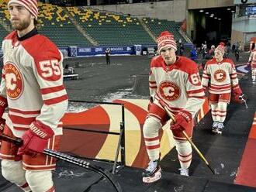
[[[147,169],[142,172],[142,181],[144,183],[153,183],[161,178],[161,167],[159,166],[159,161],[150,160]]]

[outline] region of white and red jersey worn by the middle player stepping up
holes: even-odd
[[[205,101],[197,65],[186,57],[177,57],[169,66],[161,56],[154,57],[149,85],[150,96],[164,102],[173,113],[185,110],[194,117]]]

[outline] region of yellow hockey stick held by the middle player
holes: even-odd
[[[160,102],[159,102],[160,103]],[[161,104],[161,103],[160,103]],[[168,108],[164,105],[161,104],[161,106],[164,108],[164,110],[167,112],[168,116],[171,118],[171,122],[176,122],[175,119],[175,115],[171,113],[171,111],[168,110]],[[202,153],[200,152],[200,150],[197,148],[197,146],[195,146],[194,142],[192,142],[192,140],[189,138],[189,136],[185,133],[185,131],[182,131],[182,135],[185,136],[185,138],[188,140],[188,142],[191,144],[191,146],[193,147],[193,149],[195,149],[196,153],[199,154],[199,157],[204,161],[204,163],[206,163],[206,166],[208,166],[209,170],[211,170],[211,172],[215,175],[215,172],[213,170],[213,168],[211,166],[209,166],[208,161],[206,160],[206,158],[202,155]]]

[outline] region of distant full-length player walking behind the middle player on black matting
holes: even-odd
[[[225,47],[220,44],[214,51],[214,58],[206,63],[202,74],[202,86],[209,91],[212,109],[212,132],[220,135],[227,115],[227,104],[232,91],[234,101],[240,102],[242,91],[238,84],[237,71],[232,60],[223,58]]]

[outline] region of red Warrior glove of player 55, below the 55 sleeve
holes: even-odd
[[[31,123],[29,130],[22,136],[23,145],[19,148],[18,155],[35,156],[36,153],[42,153],[47,147],[48,139],[53,135],[54,132],[50,127],[37,121]]]

